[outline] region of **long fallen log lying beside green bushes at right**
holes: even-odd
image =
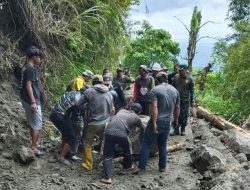
[[[220,130],[237,129],[243,133],[250,134],[249,132],[242,129],[240,126],[235,125],[235,124],[213,114],[212,112],[208,111],[207,109],[205,109],[201,106],[198,106],[196,111],[197,111],[197,116],[199,118],[205,119],[206,121],[210,122],[213,126],[219,128]]]

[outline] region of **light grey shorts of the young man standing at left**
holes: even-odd
[[[26,119],[28,127],[33,130],[42,129],[42,110],[41,105],[36,106],[36,110],[33,112],[31,110],[31,105],[24,100],[22,100],[22,105],[26,113]]]

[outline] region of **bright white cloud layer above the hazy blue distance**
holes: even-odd
[[[146,14],[146,4],[149,9]],[[225,37],[231,32],[228,22],[225,21],[228,2],[226,0],[142,0],[139,7],[133,7],[132,20],[148,20],[154,28],[163,28],[169,31],[174,40],[186,41],[188,32],[183,24],[175,17],[182,20],[189,27],[194,6],[201,10],[202,22],[213,21],[216,24],[207,24],[200,31],[200,36],[213,38]],[[211,39],[207,39],[211,41]]]

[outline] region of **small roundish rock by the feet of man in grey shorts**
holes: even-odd
[[[35,160],[34,152],[31,150],[31,148],[27,148],[25,146],[21,146],[17,150],[17,157],[20,162],[25,163],[25,164],[29,164]]]

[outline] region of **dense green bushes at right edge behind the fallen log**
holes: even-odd
[[[197,93],[204,106],[239,123],[250,114],[250,30],[246,23],[237,25],[241,35],[234,42],[220,40],[216,44],[213,57],[214,63],[221,65],[220,73],[208,75],[207,89]]]

